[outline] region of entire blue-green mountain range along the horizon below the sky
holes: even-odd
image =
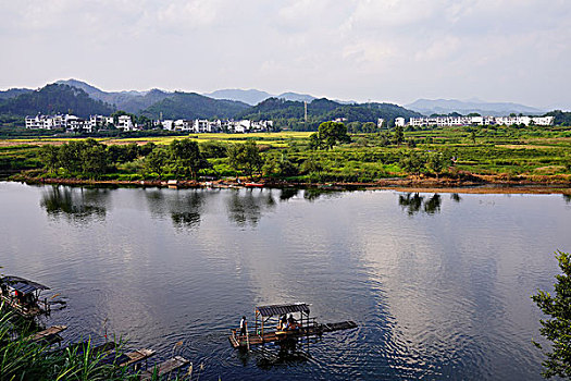
[[[305,119],[307,102],[308,119]],[[0,91],[0,114],[17,118],[41,113],[75,113],[79,116],[123,110],[151,119],[252,119],[274,120],[282,127],[314,130],[319,123],[342,119],[347,122],[376,122],[382,118],[412,118],[430,114],[477,112],[542,114],[544,110],[517,103],[492,103],[477,99],[419,99],[407,107],[394,103],[357,103],[315,98],[307,94],[272,96],[257,89],[223,89],[207,95],[185,91],[103,91],[77,79],[58,81],[40,89],[13,88]]]

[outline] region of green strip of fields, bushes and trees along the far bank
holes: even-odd
[[[325,122],[315,133],[199,134],[0,142],[14,180],[164,181],[245,176],[269,183],[571,182],[568,126],[376,128]],[[14,175],[15,174],[15,175]]]

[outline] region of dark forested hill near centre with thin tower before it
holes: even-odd
[[[253,120],[274,120],[281,127],[288,126],[294,130],[315,130],[321,122],[335,119],[376,123],[380,118],[389,121],[398,116],[408,119],[422,115],[392,103],[343,105],[326,98],[314,99],[308,103],[307,126],[303,123],[305,106],[300,101],[269,98],[236,115]]]

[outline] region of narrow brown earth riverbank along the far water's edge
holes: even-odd
[[[321,190],[358,190],[390,189],[414,193],[460,193],[460,194],[563,194],[571,196],[571,176],[543,176],[529,179],[523,176],[507,177],[502,175],[464,174],[454,177],[392,177],[368,183],[298,183],[262,179],[251,182],[246,179],[224,179],[215,181],[194,180],[80,180],[80,179],[39,179],[21,173],[9,181],[27,184],[51,184],[71,186],[101,187],[174,187],[174,188],[308,188]]]

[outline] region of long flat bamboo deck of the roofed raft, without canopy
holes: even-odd
[[[237,330],[232,330],[232,334],[229,335],[228,340],[233,347],[238,348],[240,346],[273,343],[288,337],[320,335],[325,332],[350,330],[353,328],[357,328],[357,323],[355,321],[340,321],[336,323],[323,323],[302,327],[296,331],[271,331],[264,332],[263,335],[249,334],[248,336],[241,336],[237,334]]]

